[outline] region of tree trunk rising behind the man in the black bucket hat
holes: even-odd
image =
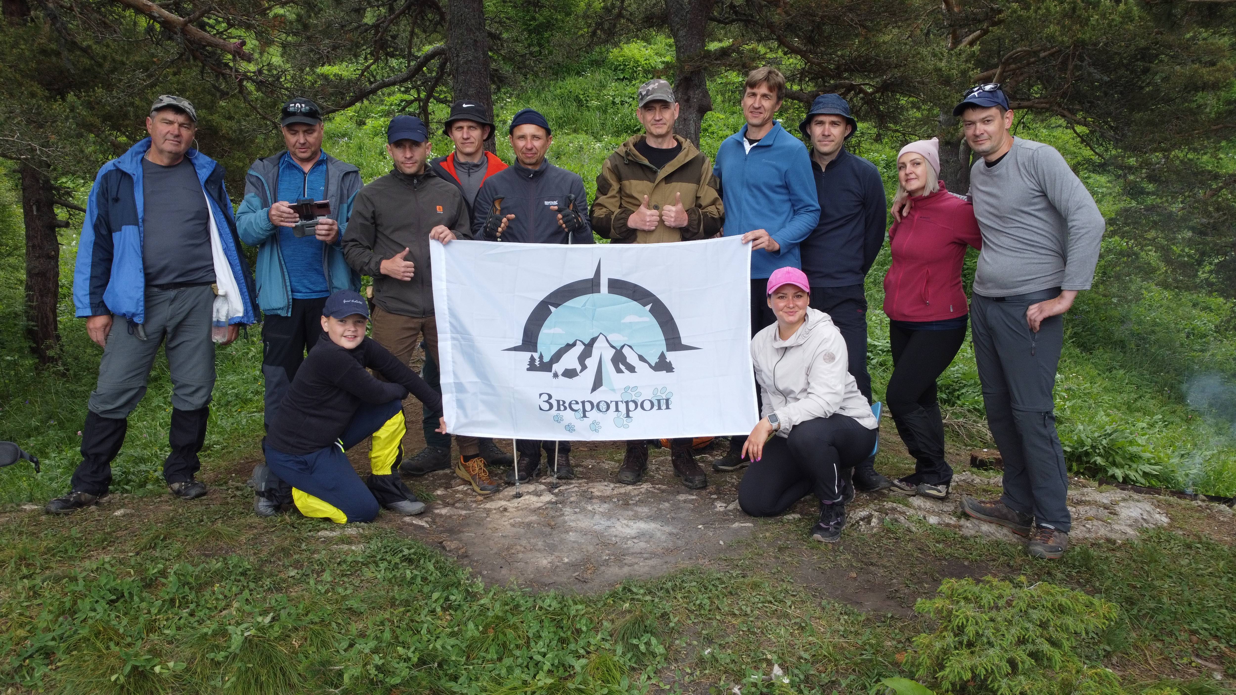
[[[476,100],[493,120],[493,92],[489,84],[489,35],[485,32],[483,0],[450,0],[446,9],[446,56],[451,62],[452,99]],[[493,152],[489,131],[485,148]]]

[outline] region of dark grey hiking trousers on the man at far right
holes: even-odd
[[[970,304],[974,359],[983,382],[988,427],[1004,458],[1004,496],[1010,510],[1068,533],[1068,467],[1056,433],[1052,390],[1064,345],[1064,317],[1030,330],[1026,309],[1059,296],[1059,288],[983,297]]]

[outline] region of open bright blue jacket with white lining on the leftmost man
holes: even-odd
[[[142,263],[142,157],[150,150],[147,137],[99,169],[85,204],[85,223],[78,241],[73,272],[73,304],[77,315],[116,314],[132,323],[146,323],[146,272]],[[253,304],[253,276],[240,254],[236,220],[224,187],[224,168],[197,150],[185,156],[201,182],[210,215],[219,228],[219,240],[240,287],[245,312],[234,324],[257,323]],[[224,224],[226,223],[226,225]]]

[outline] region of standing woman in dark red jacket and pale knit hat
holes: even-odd
[[[894,481],[905,495],[943,498],[953,480],[944,460],[944,423],[936,380],[965,340],[969,308],[962,289],[965,247],[983,246],[974,207],[939,181],[939,141],[920,140],[897,155],[892,209],[912,198],[889,229],[892,266],[884,276],[892,376],[885,393],[897,434],[915,458],[915,472]]]

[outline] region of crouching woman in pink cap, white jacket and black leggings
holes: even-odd
[[[845,340],[810,301],[811,284],[798,268],[769,277],[776,323],[751,339],[764,406],[743,446],[751,466],[738,485],[738,505],[753,517],[771,517],[815,492],[819,523],[812,538],[833,543],[854,498],[845,469],[871,454],[879,423],[849,373]]]

